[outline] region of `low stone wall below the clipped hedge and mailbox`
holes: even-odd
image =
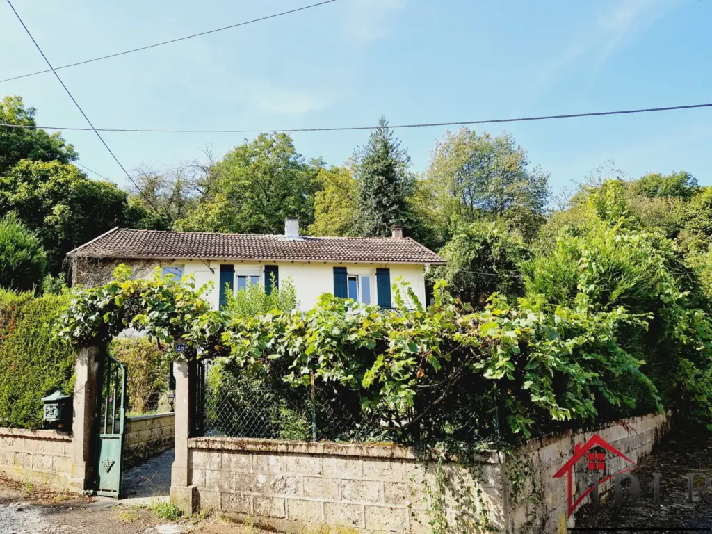
[[[72,436],[56,430],[0,428],[0,472],[19,481],[81,490],[72,480]]]

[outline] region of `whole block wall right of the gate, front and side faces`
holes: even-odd
[[[486,520],[498,531],[554,533],[574,525],[567,518],[566,478],[553,475],[577,444],[598,434],[637,462],[668,430],[669,416],[654,414],[595,432],[530,440],[514,453],[487,451],[441,464],[419,460],[413,449],[400,446],[192,438],[186,488],[191,491],[172,488],[172,495],[192,495],[194,511],[251,516],[294,533],[324,525],[361,533],[430,533],[429,521],[456,515],[468,531]],[[607,473],[624,464],[607,454]],[[589,475],[584,458],[575,464],[574,487],[578,481],[585,490]],[[457,506],[454,498],[462,496],[470,502]]]

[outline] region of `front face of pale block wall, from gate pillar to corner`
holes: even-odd
[[[483,454],[473,472],[446,464],[453,483],[481,490],[488,520],[505,525],[503,456]],[[429,533],[434,462],[387,445],[234,438],[189,439],[199,509],[259,518],[295,533],[305,526],[362,533]],[[477,499],[479,501],[479,499]],[[478,514],[481,513],[479,503]],[[477,515],[474,520],[481,521]]]

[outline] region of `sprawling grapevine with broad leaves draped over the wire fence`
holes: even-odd
[[[645,324],[622,308],[510,307],[494,298],[472,313],[444,282],[427,309],[407,286],[394,286],[394,298],[399,311],[382,313],[325,294],[306,314],[233,321],[224,345],[229,360],[265,380],[306,388],[313,373],[337,392],[332,409],[394,441],[515,439],[533,426],[542,433],[656,403],[642,362],[616,343],[623,323]],[[645,393],[620,387],[630,382]]]

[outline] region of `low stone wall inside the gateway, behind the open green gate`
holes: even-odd
[[[167,449],[172,449],[174,441],[175,414],[127,417],[123,468],[135,466]]]

